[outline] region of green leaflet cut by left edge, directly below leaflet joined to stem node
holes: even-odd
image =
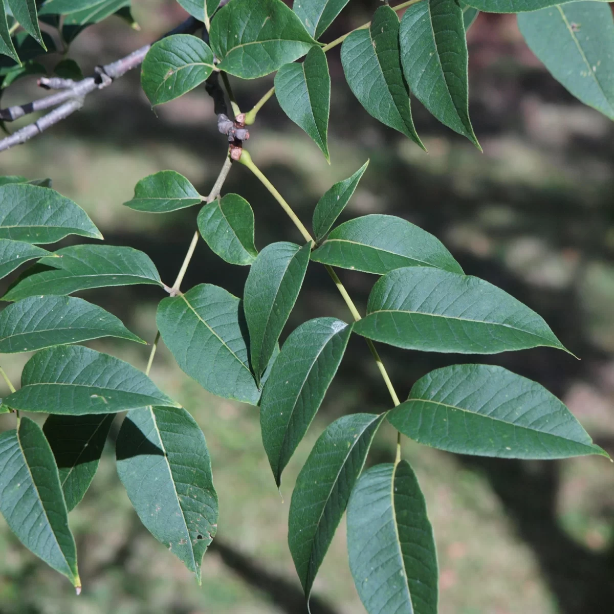
[[[29,297],[0,313],[0,354],[33,352],[107,336],[146,343],[119,318],[82,298]]]

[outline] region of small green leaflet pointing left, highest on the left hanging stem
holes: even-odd
[[[160,171],[141,179],[134,186],[134,197],[125,204],[136,211],[167,213],[200,204],[203,199],[183,175]]]

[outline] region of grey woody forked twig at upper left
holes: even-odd
[[[166,33],[162,38],[171,36],[172,34],[193,33],[200,28],[201,25],[201,21],[190,17],[179,26]],[[0,109],[0,121],[14,122],[16,119],[19,119],[24,115],[28,115],[29,113],[44,111],[44,109],[55,107],[58,104],[61,104],[62,106],[55,109],[55,111],[44,115],[37,122],[25,126],[25,128],[21,128],[21,130],[18,130],[11,136],[2,139],[2,141],[0,141],[0,152],[13,147],[14,145],[25,143],[28,141],[28,139],[40,134],[43,130],[46,130],[63,119],[66,119],[66,117],[83,106],[84,98],[89,93],[108,87],[115,79],[117,79],[117,77],[121,77],[126,72],[139,66],[145,59],[145,56],[150,48],[151,45],[145,45],[144,47],[141,47],[141,49],[126,55],[125,58],[120,58],[120,60],[112,62],[111,64],[105,64],[104,66],[97,66],[93,76],[85,77],[85,79],[76,81],[73,85],[69,85],[67,83],[68,80],[63,80],[63,84],[60,84],[60,80],[41,79],[40,84],[42,87],[52,89],[56,89],[58,86],[68,87],[62,91],[58,91],[58,93],[35,100],[31,103],[8,107],[7,109]]]

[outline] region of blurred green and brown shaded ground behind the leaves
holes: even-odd
[[[325,39],[364,23],[378,4],[352,0]],[[86,74],[185,17],[171,0],[134,0],[133,14],[139,32],[111,18],[77,38],[70,56]],[[542,314],[581,359],[554,349],[462,357],[383,346],[400,396],[432,368],[472,360],[503,365],[561,397],[596,443],[614,454],[614,126],[548,76],[524,45],[513,16],[480,15],[468,45],[470,111],[483,154],[417,102],[414,119],[428,155],[371,119],[344,82],[338,49],[329,53],[332,166],[274,99],[252,126],[249,150],[305,221],[333,182],[370,158],[344,219],[381,212],[421,225],[446,243],[465,271]],[[271,82],[271,77],[233,80],[241,108],[251,108]],[[23,80],[9,88],[2,106],[40,95],[33,80]],[[225,149],[204,88],[153,113],[135,71],[88,96],[84,109],[61,125],[1,153],[0,173],[52,177],[53,187],[86,209],[107,243],[146,251],[170,285],[198,208],[152,216],[122,203],[139,179],[162,169],[179,171],[208,193]],[[271,241],[300,241],[244,167],[232,169],[225,192],[241,193],[252,204],[259,249]],[[214,257],[201,241],[183,287],[209,282],[241,295],[246,273]],[[340,275],[363,310],[375,276]],[[2,292],[12,279],[3,282]],[[155,308],[162,298],[157,289],[82,295],[143,338],[155,336]],[[348,317],[324,268],[314,265],[284,335],[324,315]],[[140,368],[146,365],[148,348],[108,341],[90,345]],[[0,356],[0,364],[18,381],[27,359]],[[82,595],[74,596],[69,583],[29,554],[0,519],[0,614],[306,612],[286,543],[289,498],[309,449],[329,422],[344,413],[389,408],[367,347],[360,338],[351,340],[313,427],[284,473],[285,503],[262,448],[256,408],[204,392],[163,347],[152,377],[192,412],[211,451],[220,519],[204,558],[203,586],[131,510],[114,467],[118,419],[91,489],[71,513]],[[12,416],[0,417],[0,430],[13,426]],[[381,429],[368,462],[391,460],[394,440],[391,429]],[[435,528],[441,614],[614,612],[614,468],[607,461],[476,459],[408,440],[403,454],[418,473]],[[342,524],[314,585],[313,614],[364,611],[344,542]]]

